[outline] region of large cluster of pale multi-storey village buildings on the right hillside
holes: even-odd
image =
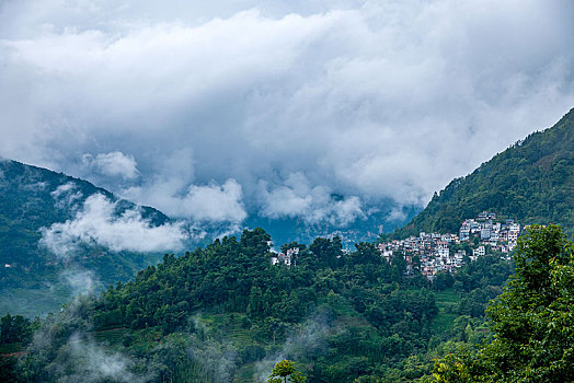
[[[484,256],[487,247],[501,253],[512,252],[520,234],[520,224],[514,220],[494,222],[495,219],[493,212],[481,212],[462,222],[459,235],[421,232],[418,236],[380,243],[378,248],[389,263],[394,256],[402,255],[407,275],[413,275],[414,267],[420,267],[421,274],[432,279],[437,272],[454,272],[464,265],[467,256],[471,260]],[[466,247],[472,251],[471,254],[461,249],[462,243],[468,243]],[[418,259],[416,265],[415,257]]]

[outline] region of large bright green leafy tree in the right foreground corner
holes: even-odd
[[[436,381],[574,381],[574,244],[556,225],[532,225],[514,259],[515,275],[486,311],[493,341],[437,361]]]

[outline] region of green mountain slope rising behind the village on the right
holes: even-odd
[[[535,132],[435,194],[403,229],[457,232],[466,218],[489,210],[524,224],[556,223],[574,233],[574,108],[552,128]]]

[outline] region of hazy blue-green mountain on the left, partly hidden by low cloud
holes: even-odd
[[[140,218],[150,227],[170,221],[156,209],[138,207],[89,182],[0,160],[0,312],[39,314],[54,310],[72,292],[67,279],[77,285],[114,283],[159,260],[158,254],[111,251],[85,239],[76,241],[76,248],[67,248],[58,224],[73,222],[84,213],[88,200],[96,201],[94,198],[101,202],[95,208],[107,207],[116,218],[129,213],[130,219]],[[47,234],[60,240],[51,248],[43,242]],[[92,281],[78,280],[80,277]]]

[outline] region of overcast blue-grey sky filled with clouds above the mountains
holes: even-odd
[[[0,155],[197,221],[423,207],[574,106],[572,20],[570,0],[3,0]]]

